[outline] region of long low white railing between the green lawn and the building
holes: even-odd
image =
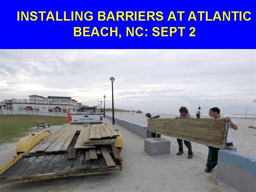
[[[27,110],[0,110],[0,114],[32,114],[45,116],[60,116],[66,117],[66,113],[44,112],[44,111],[27,111]]]

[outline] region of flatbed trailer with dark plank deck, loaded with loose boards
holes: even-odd
[[[93,145],[83,146],[82,143],[85,143],[83,139],[86,139],[85,133],[88,129],[89,127],[83,126],[64,126],[57,133],[50,135],[25,153],[17,155],[4,166],[0,170],[0,183],[122,171],[123,160],[113,144],[113,138],[110,139],[110,143],[107,143],[105,138],[97,140],[96,144],[94,140]],[[72,139],[69,144],[70,138]],[[104,140],[103,144],[101,140]],[[65,143],[66,146],[67,143],[69,144],[66,150],[63,148]],[[47,147],[43,151],[44,146]],[[49,148],[52,149],[47,150]]]

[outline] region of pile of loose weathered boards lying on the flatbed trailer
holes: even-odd
[[[101,159],[98,156],[103,156],[107,166],[113,167],[116,166],[115,160],[122,161],[114,146],[117,136],[119,133],[107,124],[64,126],[28,151],[25,156],[68,153],[68,159],[76,159],[77,150],[85,150],[86,161],[98,161]]]

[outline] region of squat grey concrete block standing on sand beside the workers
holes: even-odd
[[[171,142],[164,138],[147,138],[144,140],[144,151],[150,156],[170,154]]]

